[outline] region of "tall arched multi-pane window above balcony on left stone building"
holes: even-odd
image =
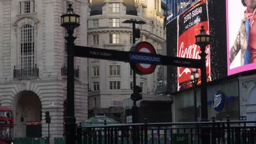
[[[25,25],[20,29],[20,65],[24,76],[33,73],[34,54],[34,27]]]

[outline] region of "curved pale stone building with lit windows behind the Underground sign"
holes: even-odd
[[[132,25],[122,22],[136,19],[146,22],[145,25],[136,25],[141,34],[137,42],[148,41],[156,51],[162,49],[166,32],[160,0],[92,0],[89,5],[89,46],[130,51]],[[130,98],[132,93],[133,74],[130,64],[89,59],[88,68],[89,115],[106,114],[119,122],[125,122],[120,109],[123,108],[123,100]],[[156,70],[150,75],[136,75],[136,85],[142,87],[143,95],[153,95],[156,88]],[[113,115],[114,112],[117,113]]]

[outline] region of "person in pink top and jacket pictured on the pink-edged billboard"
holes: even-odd
[[[241,65],[256,63],[256,0],[241,0],[247,7],[234,45],[229,52],[230,64],[241,50]]]

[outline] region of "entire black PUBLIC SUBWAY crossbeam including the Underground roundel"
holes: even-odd
[[[132,69],[140,75],[153,73],[156,64],[186,68],[201,68],[200,59],[156,55],[156,51],[152,44],[146,41],[133,44],[130,51],[107,50],[75,45],[74,56],[129,62]]]

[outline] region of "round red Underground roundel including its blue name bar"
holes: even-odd
[[[161,57],[156,55],[154,46],[147,41],[133,44],[130,52],[134,52],[130,53],[131,68],[139,75],[153,73],[156,68],[156,64],[161,63]]]

